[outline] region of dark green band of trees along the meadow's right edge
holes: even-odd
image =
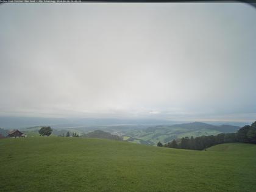
[[[201,137],[183,137],[181,140],[172,140],[169,143],[157,143],[157,146],[166,148],[204,150],[221,143],[254,143],[256,144],[256,121],[251,126],[241,127],[236,133],[220,133],[218,135]]]

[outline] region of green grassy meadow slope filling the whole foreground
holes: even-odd
[[[4,139],[0,191],[256,191],[256,145],[233,145],[223,152],[96,138]]]

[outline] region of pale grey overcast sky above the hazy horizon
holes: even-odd
[[[0,115],[256,120],[256,9],[0,5]]]

